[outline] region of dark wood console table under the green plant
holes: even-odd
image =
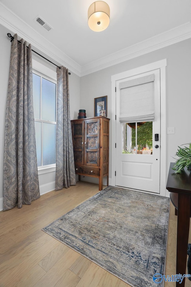
[[[177,223],[177,248],[176,248],[176,274],[186,274],[188,236],[190,228],[190,198],[191,198],[191,173],[187,168],[184,173],[175,174],[172,170],[174,163],[170,163],[167,190],[170,192],[170,199],[175,206],[175,214],[178,210]],[[181,287],[185,285],[185,278]],[[180,286],[176,282],[176,287]]]

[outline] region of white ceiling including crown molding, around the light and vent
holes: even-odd
[[[0,23],[80,76],[191,37],[190,0],[105,1],[110,25],[102,32],[87,25],[92,0],[1,0]]]

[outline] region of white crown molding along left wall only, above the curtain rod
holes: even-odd
[[[17,33],[19,37],[24,38],[24,40],[30,43],[32,48],[38,49],[41,53],[44,53],[46,56],[56,61],[58,65],[63,65],[67,67],[68,70],[80,76],[81,66],[78,65],[78,63],[64,54],[1,2],[0,24],[8,29],[7,33],[10,32],[9,30],[13,33]]]

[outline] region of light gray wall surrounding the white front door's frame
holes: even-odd
[[[129,61],[81,77],[80,109],[93,117],[94,98],[107,95],[108,115],[111,118],[111,76],[149,63],[167,59],[167,127],[175,127],[175,134],[167,135],[167,174],[178,145],[191,142],[191,39],[130,59]],[[110,121],[111,123],[111,121]],[[111,124],[110,175],[111,177]]]

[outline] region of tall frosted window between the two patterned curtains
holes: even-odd
[[[56,81],[33,72],[37,165],[56,164]]]

